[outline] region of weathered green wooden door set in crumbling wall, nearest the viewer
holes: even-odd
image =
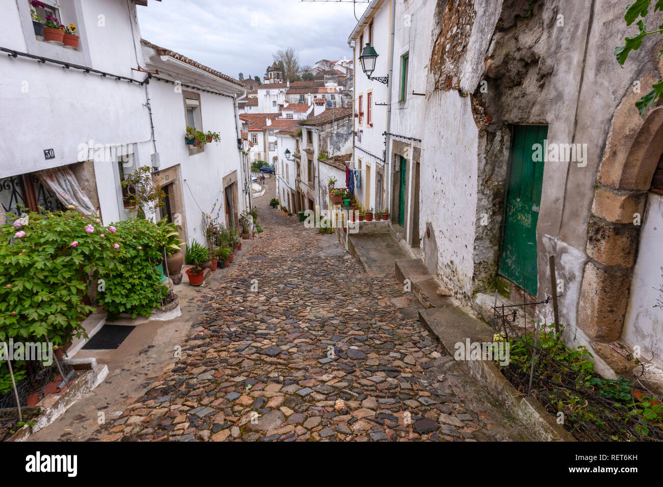
[[[499,265],[502,276],[534,296],[538,288],[536,223],[544,162],[534,160],[532,146],[541,144],[543,147],[547,136],[548,127],[545,125],[516,125],[513,129],[507,215]]]

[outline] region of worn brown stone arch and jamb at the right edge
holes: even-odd
[[[663,107],[642,121],[631,97],[617,109],[587,228],[587,256],[577,324],[595,341],[621,337],[640,227],[654,171],[663,154]]]

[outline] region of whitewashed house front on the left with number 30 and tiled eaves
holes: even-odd
[[[61,23],[78,27],[77,48],[38,38],[27,1],[0,6],[7,22],[0,48],[11,54],[0,57],[7,115],[0,136],[1,214],[19,213],[20,205],[37,211],[76,204],[105,224],[127,219],[135,209],[125,208],[121,178],[150,166],[152,180],[168,194],[152,217],[180,223],[186,243],[202,240],[201,208],[233,224],[249,204],[237,142],[235,97],[245,91],[239,81],[141,44],[136,6],[146,0],[44,4]],[[157,66],[160,74],[152,76]],[[219,146],[188,148],[190,109],[198,111],[196,127],[221,135]]]

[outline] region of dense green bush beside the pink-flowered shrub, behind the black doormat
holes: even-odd
[[[119,313],[148,317],[153,307],[161,305],[161,298],[168,296],[156,268],[164,258],[167,235],[155,223],[139,218],[116,223],[108,231],[119,240],[123,252],[111,272],[101,276],[99,303],[111,320]]]

